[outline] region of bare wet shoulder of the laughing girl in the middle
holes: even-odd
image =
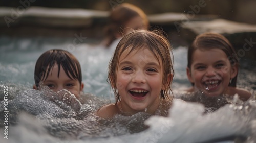
[[[107,104],[100,107],[95,114],[101,118],[112,118],[118,112],[119,112],[119,109],[117,105]]]

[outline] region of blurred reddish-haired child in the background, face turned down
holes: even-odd
[[[146,14],[140,8],[122,3],[115,7],[110,14],[109,26],[105,31],[105,39],[102,43],[109,47],[116,38],[129,33],[131,29],[147,29],[149,25]],[[117,41],[120,40],[117,39]],[[117,43],[113,47],[116,47]]]

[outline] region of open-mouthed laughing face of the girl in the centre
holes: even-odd
[[[147,108],[148,113],[154,113],[164,90],[162,61],[146,48],[128,53],[129,48],[121,54],[116,76],[122,110],[135,114]]]

